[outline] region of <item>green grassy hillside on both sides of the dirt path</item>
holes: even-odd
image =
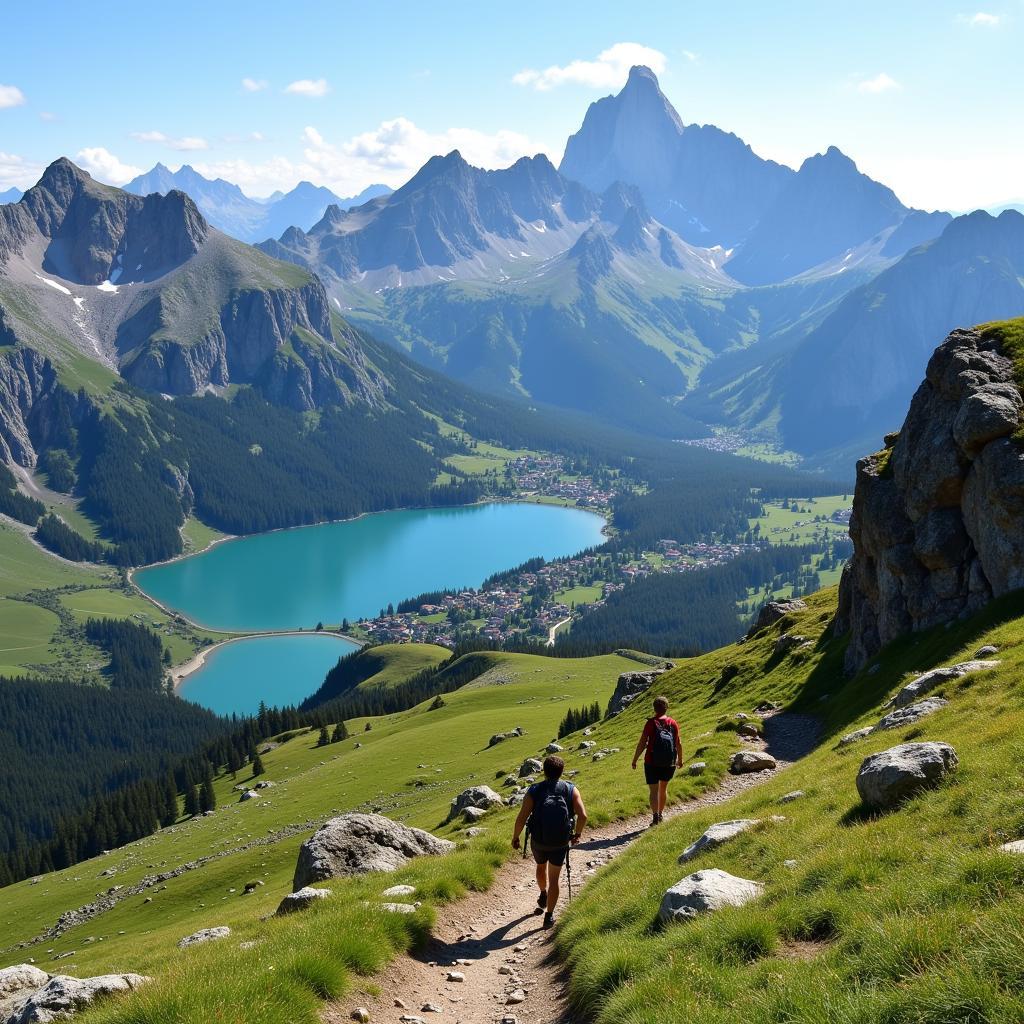
[[[658,689],[683,728],[687,759],[708,772],[674,783],[685,800],[713,786],[739,745],[728,722],[763,699],[780,700],[822,723],[817,750],[756,792],[685,815],[639,840],[584,890],[562,922],[561,955],[583,1019],[663,1022],[1016,1021],[1024,1012],[1024,858],[998,844],[1024,836],[1020,740],[1024,697],[1024,597],[991,605],[969,622],[898,642],[852,680],[841,674],[843,641],[827,633],[836,592],[743,644],[683,663]],[[811,643],[774,653],[783,630]],[[882,733],[847,749],[839,737],[881,717],[880,705],[911,674],[1000,647],[995,671],[937,691],[950,702],[911,729]],[[88,1020],[298,1022],[316,1019],[319,999],[373,985],[396,951],[422,938],[432,906],[487,885],[509,855],[511,811],[488,816],[483,837],[444,825],[451,798],[473,783],[502,788],[505,772],[543,749],[568,707],[607,698],[617,674],[636,663],[617,655],[556,659],[494,654],[477,680],[399,715],[348,723],[351,738],[325,749],[305,733],[264,755],[276,784],[259,800],[236,803],[223,777],[219,808],[179,822],[116,853],[4,891],[0,965],[35,955],[42,967],[85,975],[155,973],[137,996],[101,1007]],[[726,669],[729,671],[724,671]],[[565,740],[595,821],[640,812],[646,791],[629,771],[645,703],[602,723],[591,738],[620,748],[599,763]],[[520,725],[526,735],[487,748],[494,732]],[[898,811],[865,815],[854,779],[861,759],[911,738],[957,750],[953,779]],[[356,746],[356,743],[362,744]],[[246,773],[247,774],[247,773]],[[239,782],[247,781],[240,773]],[[779,806],[784,793],[803,800]],[[323,818],[379,809],[460,840],[444,858],[396,876],[330,883],[336,896],[308,914],[260,921],[290,889],[299,843]],[[744,816],[766,823],[685,867],[680,851],[715,821]],[[261,845],[250,846],[258,843]],[[58,939],[12,949],[66,909],[113,884],[130,886],[155,868],[198,857],[202,866],[130,896]],[[791,863],[786,863],[786,862]],[[795,863],[794,863],[795,862]],[[115,867],[113,881],[100,878]],[[660,929],[662,893],[684,874],[721,867],[766,884],[742,909]],[[924,869],[923,869],[924,868]],[[264,886],[244,896],[250,881]],[[384,888],[418,887],[423,906],[400,919],[375,909]],[[151,898],[152,902],[145,902]],[[202,950],[176,940],[226,924],[232,937]],[[256,945],[242,948],[242,942]],[[272,971],[273,984],[269,981]],[[368,976],[358,980],[359,976]]]

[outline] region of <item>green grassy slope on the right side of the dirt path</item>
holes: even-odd
[[[899,641],[874,673],[853,680],[841,675],[841,644],[821,634],[833,599],[819,595],[800,616],[796,628],[816,643],[792,666],[795,707],[822,719],[819,749],[727,808],[678,818],[641,840],[565,915],[558,948],[585,1019],[1024,1019],[1024,858],[998,849],[1024,835],[1024,598]],[[748,706],[777,634],[735,649],[735,693]],[[1000,648],[1001,665],[937,690],[947,708],[915,727],[838,748],[842,735],[878,721],[880,705],[910,674],[964,660],[987,643]],[[911,739],[953,744],[961,765],[951,781],[899,810],[863,814],[855,788],[861,760]],[[797,788],[805,799],[777,804]],[[677,864],[715,821],[772,814],[785,820]],[[765,883],[765,896],[658,928],[664,891],[710,867]]]

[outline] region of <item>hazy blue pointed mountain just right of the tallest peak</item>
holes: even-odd
[[[896,194],[836,146],[809,157],[729,260],[745,285],[795,278],[839,258],[834,272],[865,255],[898,257],[935,238],[948,213],[909,210]]]

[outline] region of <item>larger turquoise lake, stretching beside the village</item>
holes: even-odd
[[[135,573],[161,604],[210,629],[312,629],[374,616],[431,590],[478,587],[528,558],[602,544],[604,520],[556,505],[382,512],[240,538]]]

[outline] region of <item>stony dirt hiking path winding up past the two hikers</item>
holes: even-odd
[[[727,775],[717,788],[667,810],[666,817],[725,803],[769,781],[813,749],[818,728],[809,716],[778,714],[766,719],[766,732],[767,742],[746,745],[767,749],[778,762],[775,771]],[[588,829],[587,841],[572,853],[573,892],[642,836],[649,820],[645,814]],[[564,900],[564,876],[562,884]],[[542,930],[542,919],[534,913],[536,897],[532,861],[517,857],[500,868],[485,893],[471,893],[438,908],[426,949],[395,961],[381,979],[380,996],[362,998],[372,1020],[384,1024],[570,1024],[558,965],[551,962],[552,933]],[[464,980],[449,981],[449,972],[457,972]],[[350,996],[331,1007],[325,1020],[329,1024],[348,1021],[359,1005],[358,995]],[[428,1006],[437,1009],[428,1010]]]

